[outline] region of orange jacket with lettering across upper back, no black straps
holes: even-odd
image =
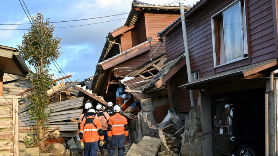
[[[111,116],[108,122],[111,125],[111,131],[107,131],[108,136],[117,136],[124,134],[128,136],[128,130],[125,131],[124,125],[127,124],[126,117],[121,116],[120,113],[115,113],[115,115]]]

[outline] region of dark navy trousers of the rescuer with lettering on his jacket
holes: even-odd
[[[118,150],[119,148],[123,148],[124,143],[125,143],[126,137],[124,134],[117,135],[117,136],[112,136],[111,138],[111,146],[109,150],[109,155],[112,156],[115,153],[115,147],[118,145]],[[119,150],[119,156],[123,156],[123,150]]]

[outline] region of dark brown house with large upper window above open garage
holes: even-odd
[[[256,155],[258,151],[262,155],[277,154],[277,137],[274,137],[277,130],[273,128],[277,126],[274,124],[277,120],[277,90],[268,93],[270,103],[274,103],[272,106],[266,105],[263,109],[264,106],[261,108],[260,105],[265,99],[265,90],[269,89],[270,73],[278,68],[277,6],[275,0],[201,0],[185,12],[193,81],[188,83],[185,64],[169,79],[167,90],[174,88],[174,101],[179,109],[191,111],[191,117],[186,121],[189,131],[200,132],[200,135],[190,136],[190,139],[199,140],[198,145],[191,144],[196,149],[191,152],[197,155],[237,155],[236,152],[242,148],[253,150]],[[183,55],[185,46],[182,30],[181,18],[178,18],[159,32],[160,39],[165,41],[167,60]],[[274,80],[274,84],[276,82]],[[188,90],[195,90],[194,107],[190,106]],[[256,123],[260,127],[256,130],[256,139],[260,140],[260,145],[258,141],[246,139],[244,145],[236,142],[227,150],[215,142],[215,136],[219,137],[220,133],[213,124],[215,101],[243,95],[246,101],[253,101],[254,108],[260,110],[256,113],[265,118]],[[246,111],[247,105],[248,102],[241,103],[239,110]],[[270,112],[265,113],[264,110]],[[195,112],[200,118],[192,115]],[[198,122],[192,124],[193,120]],[[194,129],[194,126],[201,128]],[[188,148],[183,148],[181,153],[187,155],[187,151]]]

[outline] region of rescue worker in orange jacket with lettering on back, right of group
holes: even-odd
[[[119,156],[125,151],[124,142],[128,136],[128,124],[124,116],[120,114],[121,107],[114,106],[115,115],[111,116],[108,122],[108,140],[111,140],[109,155],[114,155],[115,147],[118,145]]]

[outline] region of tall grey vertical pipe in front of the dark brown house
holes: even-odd
[[[187,35],[186,35],[186,25],[185,25],[183,3],[180,1],[179,5],[180,5],[180,11],[181,11],[181,25],[182,25],[182,33],[183,33],[184,54],[185,54],[185,57],[186,57],[185,59],[186,59],[187,77],[188,77],[188,82],[191,82],[192,81],[191,66],[190,66],[190,58],[189,58],[189,51],[188,51],[188,44],[187,44]],[[194,106],[193,90],[189,90],[189,94],[190,94],[191,106]]]

